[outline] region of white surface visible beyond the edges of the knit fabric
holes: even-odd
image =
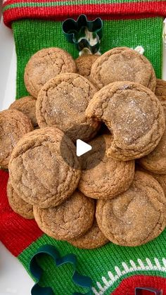
[[[164,50],[164,49],[163,49]],[[164,50],[163,79],[166,80],[166,49]],[[13,34],[0,23],[0,111],[15,100],[16,56]],[[34,282],[0,242],[0,295],[30,295]]]

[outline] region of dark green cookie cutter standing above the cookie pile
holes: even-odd
[[[87,16],[79,15],[77,20],[68,18],[62,25],[63,34],[70,43],[74,43],[79,51],[89,49],[91,54],[100,54],[100,43],[103,37],[101,18],[87,20]]]

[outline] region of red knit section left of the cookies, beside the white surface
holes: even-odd
[[[18,256],[43,233],[34,220],[27,220],[13,212],[6,196],[7,182],[8,172],[0,170],[0,241]]]

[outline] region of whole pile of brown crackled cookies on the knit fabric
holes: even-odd
[[[166,82],[148,59],[127,47],[75,61],[41,49],[24,80],[31,96],[0,113],[13,211],[84,249],[158,237],[166,225]],[[77,157],[77,139],[91,151]]]

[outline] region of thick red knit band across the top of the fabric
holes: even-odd
[[[14,0],[13,0],[14,1]],[[22,1],[20,1],[22,2]],[[7,2],[4,7],[9,3]],[[11,4],[11,1],[10,1]],[[148,15],[166,15],[165,1],[151,1],[139,3],[123,3],[123,4],[91,4],[91,5],[71,5],[71,6],[51,6],[51,7],[23,7],[8,8],[4,11],[4,23],[8,26],[14,20],[23,18],[44,18],[62,20],[68,17],[74,17],[81,13],[94,16],[111,15],[121,18],[124,15],[136,15],[146,13]]]

